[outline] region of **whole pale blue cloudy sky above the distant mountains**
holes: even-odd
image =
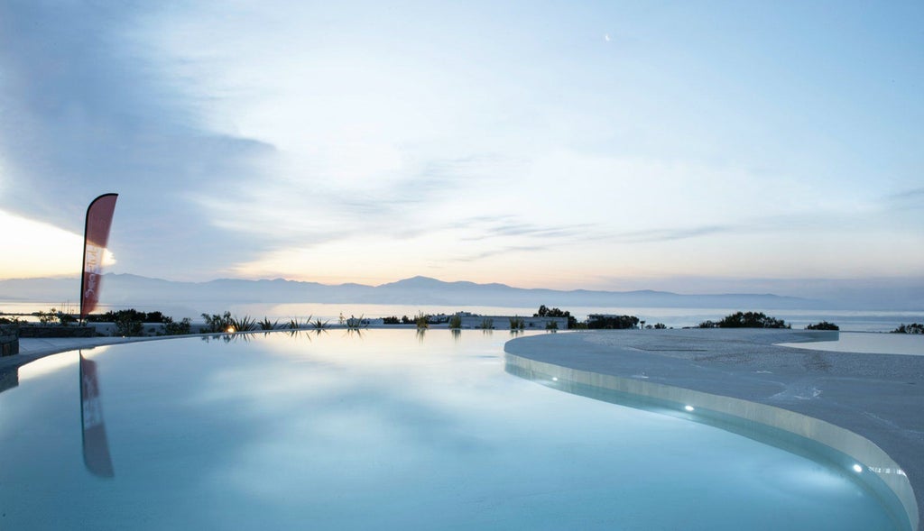
[[[0,0],[0,279],[924,285],[924,3]],[[817,295],[817,294],[816,294]]]

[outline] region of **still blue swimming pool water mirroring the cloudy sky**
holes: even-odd
[[[78,353],[45,358],[0,393],[0,528],[896,528],[844,471],[508,374],[509,338],[85,351],[108,478],[83,461]]]

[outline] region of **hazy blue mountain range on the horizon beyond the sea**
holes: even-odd
[[[78,278],[0,281],[0,300],[76,301]],[[204,283],[173,282],[131,274],[106,274],[103,300],[110,306],[158,303],[356,303],[428,304],[441,306],[610,307],[610,308],[832,308],[829,302],[771,294],[680,295],[661,291],[590,291],[524,289],[505,284],[443,282],[417,276],[378,286],[318,284],[284,279],[220,279]]]

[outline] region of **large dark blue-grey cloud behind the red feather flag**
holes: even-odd
[[[228,197],[225,184],[256,180],[274,150],[209,131],[199,103],[162,80],[154,52],[132,38],[152,9],[0,6],[0,208],[81,233],[91,199],[117,192],[111,247],[120,266],[206,271],[259,246],[236,246],[190,194],[245,199]]]

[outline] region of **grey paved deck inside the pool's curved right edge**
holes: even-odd
[[[875,442],[906,471],[924,513],[924,356],[775,346],[814,332],[594,331],[515,339],[510,354],[782,407]],[[822,332],[823,333],[823,332]],[[924,517],[918,529],[924,529]]]

